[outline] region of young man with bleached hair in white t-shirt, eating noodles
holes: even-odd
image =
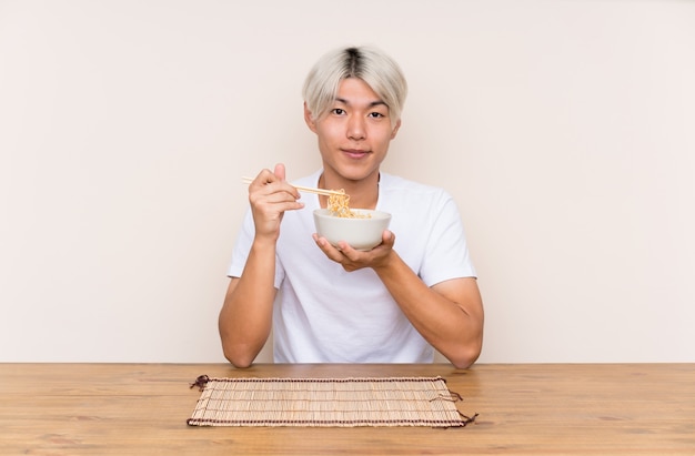
[[[477,359],[483,305],[456,204],[443,190],[380,171],[401,126],[407,87],[372,48],[324,55],[304,83],[304,119],[323,169],[296,185],[344,189],[352,207],[392,214],[369,252],[314,232],[324,196],[285,181],[284,165],[249,186],[219,327],[226,358],[251,365],[274,336],[278,363],[429,363]]]

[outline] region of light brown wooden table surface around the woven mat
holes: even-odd
[[[188,426],[211,377],[443,376],[474,424]],[[695,455],[695,364],[0,364],[3,455]]]

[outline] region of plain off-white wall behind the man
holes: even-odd
[[[344,44],[406,73],[383,169],[455,195],[481,363],[695,362],[695,2],[668,0],[0,0],[0,361],[224,361],[240,178],[319,168],[301,85]]]

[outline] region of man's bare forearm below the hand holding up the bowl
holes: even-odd
[[[456,367],[475,362],[482,348],[483,308],[475,278],[429,287],[395,251],[375,272],[420,334]]]

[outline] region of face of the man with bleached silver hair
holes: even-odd
[[[391,125],[389,107],[366,82],[344,79],[329,112],[312,120],[304,111],[309,128],[319,138],[319,150],[326,179],[361,181],[377,175],[389,144],[401,122]]]

